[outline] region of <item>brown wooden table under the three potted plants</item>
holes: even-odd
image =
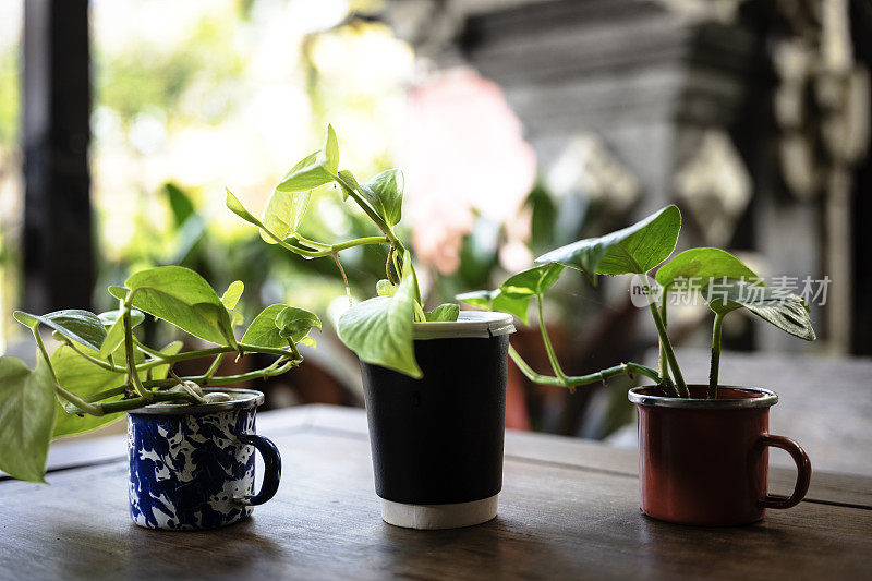
[[[380,520],[363,411],[263,413],[281,448],[278,495],[250,521],[205,533],[135,526],[123,437],[61,444],[50,486],[0,481],[0,578],[869,579],[872,479],[816,473],[809,497],[754,525],[698,529],[639,513],[637,457],[509,432],[499,516],[453,531]],[[812,459],[813,462],[814,459]],[[774,470],[786,492],[792,473]]]

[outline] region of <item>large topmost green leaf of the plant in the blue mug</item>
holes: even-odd
[[[159,266],[136,273],[124,283],[134,293],[132,304],[136,308],[206,341],[237,347],[227,308],[193,270]]]

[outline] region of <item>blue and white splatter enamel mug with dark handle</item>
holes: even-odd
[[[153,404],[128,412],[130,516],[147,529],[201,531],[246,519],[276,494],[281,458],[255,434],[264,395],[222,391],[231,401],[202,406]],[[264,481],[254,494],[254,452]]]

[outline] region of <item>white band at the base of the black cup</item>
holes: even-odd
[[[499,495],[453,505],[404,505],[382,499],[382,519],[404,529],[434,531],[487,522],[497,516]]]

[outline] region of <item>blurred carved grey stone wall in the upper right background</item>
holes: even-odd
[[[869,62],[855,48],[872,36],[870,11],[850,0],[403,0],[386,19],[432,66],[471,65],[504,88],[558,196],[626,219],[677,202],[686,246],[749,252],[762,275],[799,285],[828,276],[816,349],[847,353],[870,349],[851,337],[872,324],[856,308],[872,288],[858,278],[855,226],[870,142]],[[807,347],[763,325],[747,342]]]

